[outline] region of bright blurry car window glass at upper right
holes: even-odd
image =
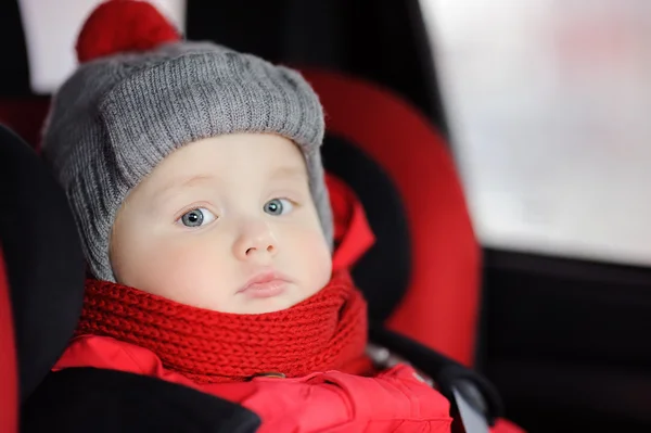
[[[651,1],[421,4],[482,242],[651,265]]]

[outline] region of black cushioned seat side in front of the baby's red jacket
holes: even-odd
[[[50,373],[23,406],[21,431],[253,433],[244,407],[145,375],[93,368]]]

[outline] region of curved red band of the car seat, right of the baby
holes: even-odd
[[[392,92],[326,72],[303,71],[328,130],[360,147],[398,188],[411,233],[411,282],[388,327],[463,364],[473,360],[481,250],[443,138]]]

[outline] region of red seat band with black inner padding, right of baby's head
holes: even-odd
[[[443,139],[386,89],[340,74],[303,73],[327,114],[326,168],[356,190],[379,239],[375,250],[384,252],[371,251],[355,269],[371,318],[471,365],[481,254]],[[365,160],[386,179],[369,178]],[[394,208],[387,186],[397,191],[401,209]]]

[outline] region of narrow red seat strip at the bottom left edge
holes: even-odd
[[[18,383],[13,315],[4,259],[0,250],[0,432],[17,432]]]

